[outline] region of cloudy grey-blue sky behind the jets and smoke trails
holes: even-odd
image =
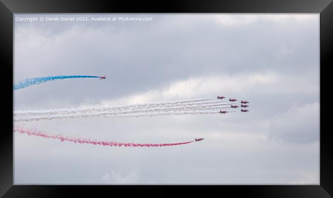
[[[152,21],[15,23],[15,110],[216,97],[249,112],[15,123],[163,148],[80,145],[14,133],[15,184],[319,184],[319,14],[15,14]]]

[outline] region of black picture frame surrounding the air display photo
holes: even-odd
[[[69,192],[76,196],[96,197],[96,192],[115,191],[151,192],[151,188],[164,196],[172,195],[179,188],[178,195],[207,195],[213,190],[217,195],[232,193],[254,197],[331,197],[333,196],[333,146],[329,117],[322,115],[320,107],[320,185],[214,185],[205,186],[77,186],[77,185],[13,185],[13,13],[320,13],[320,87],[329,86],[329,72],[333,57],[333,3],[332,0],[233,0],[233,1],[89,1],[89,0],[0,0],[0,60],[3,76],[0,78],[2,91],[0,100],[3,108],[2,136],[0,143],[0,195],[3,197],[64,197]],[[331,89],[320,89],[320,98],[329,100],[327,92]],[[329,101],[328,101],[329,102]],[[7,105],[8,104],[8,105]],[[324,107],[323,107],[324,108]],[[325,124],[326,123],[326,124]],[[131,190],[128,190],[131,189]],[[207,192],[209,190],[209,192]],[[143,194],[141,194],[143,195]],[[155,194],[157,195],[157,194]],[[154,196],[154,194],[150,194]]]

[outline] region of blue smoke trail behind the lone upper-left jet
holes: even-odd
[[[14,84],[14,90],[22,89],[25,87],[29,87],[31,85],[38,85],[41,83],[45,83],[47,81],[54,81],[57,79],[66,79],[66,78],[84,78],[84,77],[99,77],[94,75],[57,75],[57,76],[48,76],[48,77],[36,77],[36,78],[27,78],[24,81],[18,82]]]

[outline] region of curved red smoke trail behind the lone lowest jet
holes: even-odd
[[[15,131],[19,133],[25,133],[28,135],[38,136],[38,137],[44,137],[44,138],[51,138],[51,139],[57,139],[61,142],[67,141],[67,142],[74,142],[79,144],[93,144],[93,145],[101,145],[101,146],[125,146],[125,147],[162,147],[162,146],[176,146],[176,145],[182,145],[182,144],[189,144],[191,142],[182,142],[182,143],[169,143],[169,144],[136,144],[136,143],[118,143],[118,142],[108,142],[108,141],[93,141],[93,140],[86,140],[84,138],[75,138],[75,137],[66,137],[62,135],[50,135],[43,132],[38,131],[31,131],[27,129],[20,129],[15,128]]]

